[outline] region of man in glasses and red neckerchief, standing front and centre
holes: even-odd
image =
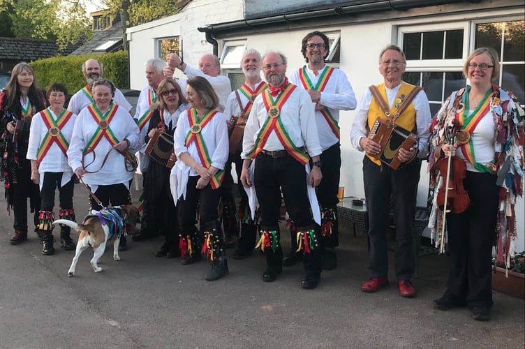
[[[258,246],[267,261],[263,281],[272,282],[282,272],[279,233],[282,190],[286,211],[297,225],[304,253],[305,277],[301,286],[316,288],[321,273],[320,245],[310,209],[320,223],[314,188],[323,175],[315,113],[306,91],[288,82],[283,54],[267,53],[263,72],[268,88],[253,102],[241,154],[242,184],[247,188],[254,186],[260,206]],[[311,170],[309,156],[313,161]]]

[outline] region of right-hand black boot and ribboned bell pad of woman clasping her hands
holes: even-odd
[[[226,260],[223,246],[223,230],[218,220],[206,222],[201,226],[205,235],[202,252],[212,263],[212,270],[206,273],[204,279],[215,281],[229,274],[228,261]]]

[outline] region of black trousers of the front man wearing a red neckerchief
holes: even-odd
[[[281,190],[286,211],[295,225],[297,227],[311,225],[304,165],[292,156],[272,158],[259,153],[255,166],[253,184],[259,201],[260,225],[272,227],[279,224]]]

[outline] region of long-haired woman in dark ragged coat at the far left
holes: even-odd
[[[0,178],[6,186],[8,211],[13,209],[12,245],[27,240],[27,198],[38,225],[40,193],[31,181],[31,163],[26,155],[31,119],[46,106],[45,92],[36,86],[33,68],[25,62],[17,64],[0,94]]]

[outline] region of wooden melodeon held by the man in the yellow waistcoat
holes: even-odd
[[[377,156],[371,154],[369,156],[389,165],[393,170],[397,170],[401,165],[401,160],[397,157],[399,149],[408,151],[416,142],[411,131],[380,117],[376,119],[370,130],[369,138],[372,137],[374,142],[380,145],[381,151]]]

